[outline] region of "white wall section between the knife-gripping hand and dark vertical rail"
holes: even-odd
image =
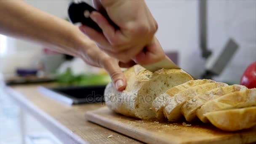
[[[157,38],[165,51],[179,52],[179,66],[195,77],[203,72],[198,37],[197,0],[147,0],[157,20]]]

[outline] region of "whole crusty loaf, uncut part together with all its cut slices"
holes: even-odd
[[[182,115],[192,121],[197,116],[224,131],[256,125],[256,88],[193,80],[182,69],[150,72],[135,65],[124,75],[124,91],[117,91],[112,83],[104,91],[107,106],[117,113],[140,119],[166,117],[169,121]]]

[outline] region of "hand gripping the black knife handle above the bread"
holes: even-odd
[[[154,37],[157,22],[144,0],[94,0],[99,11],[106,11],[109,18],[120,27],[114,29],[99,12],[91,13],[91,19],[103,30],[103,34],[87,26],[80,26],[101,50],[122,62],[135,61],[149,64],[164,58],[164,52]],[[147,46],[146,53],[143,48]]]

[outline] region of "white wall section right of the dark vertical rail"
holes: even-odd
[[[210,0],[209,46],[218,51],[233,37],[239,50],[216,80],[238,82],[256,61],[256,0]]]

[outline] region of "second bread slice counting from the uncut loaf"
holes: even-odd
[[[207,83],[207,84],[198,85],[192,88],[188,88],[186,91],[181,91],[177,93],[167,101],[167,105],[163,110],[165,117],[167,117],[169,121],[179,120],[179,118],[182,117],[181,107],[187,100],[192,99],[194,96],[198,94],[203,94],[206,91],[209,91],[209,90],[212,90],[213,88],[218,88],[221,86],[227,86],[227,84],[226,83]]]

